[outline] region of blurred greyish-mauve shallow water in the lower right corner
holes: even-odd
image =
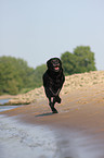
[[[104,142],[83,132],[64,132],[57,137],[58,158],[104,158]]]

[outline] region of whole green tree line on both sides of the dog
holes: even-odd
[[[65,75],[95,71],[94,52],[89,46],[79,46],[74,52],[61,54]],[[42,85],[46,64],[29,68],[23,59],[0,57],[0,95],[26,93]]]

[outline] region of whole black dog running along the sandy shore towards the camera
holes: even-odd
[[[57,113],[54,108],[55,102],[61,104],[60,92],[65,82],[65,76],[62,69],[62,62],[58,58],[51,58],[47,62],[48,70],[43,74],[43,87],[46,95],[49,98],[49,105],[53,113]]]

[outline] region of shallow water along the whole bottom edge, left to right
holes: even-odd
[[[63,133],[0,116],[0,158],[9,157],[104,158],[104,144],[80,132]]]

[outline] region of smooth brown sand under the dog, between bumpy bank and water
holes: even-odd
[[[48,105],[48,100],[39,100],[35,104],[21,105],[20,107],[2,111],[0,114],[8,117],[20,116],[23,122],[30,124],[50,124],[66,125],[78,127],[88,125],[89,127],[98,127],[101,125],[103,131],[104,114],[104,85],[91,86],[78,89],[72,94],[62,96],[62,104],[56,104],[57,114],[53,114]],[[18,117],[17,117],[18,118]],[[82,120],[81,120],[82,119]],[[53,122],[51,122],[53,120]],[[61,121],[60,121],[61,120]],[[68,122],[67,122],[68,120]],[[94,121],[95,120],[95,121]],[[66,121],[66,122],[65,122]],[[98,122],[101,122],[96,124]]]

